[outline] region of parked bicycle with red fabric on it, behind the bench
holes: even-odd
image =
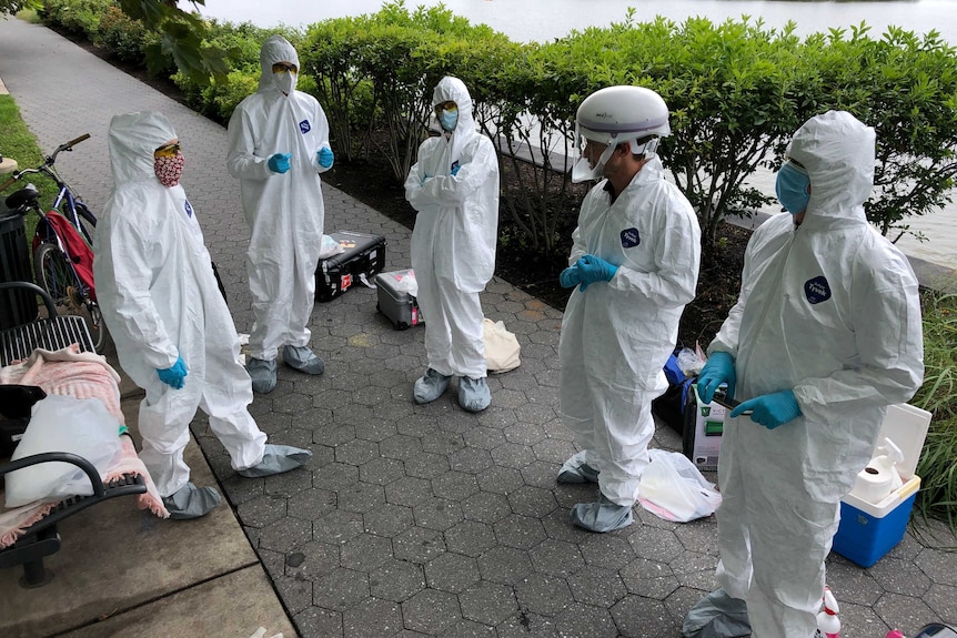
[[[26,215],[33,211],[39,216],[32,245],[37,283],[50,293],[58,307],[66,306],[84,318],[93,347],[97,353],[103,354],[108,335],[97,303],[91,249],[97,217],[54,168],[57,155],[63,151],[72,151],[75,144],[89,138],[90,134],[85,133],[59,145],[36,169],[14,171],[12,176],[0,185],[0,192],[34,174],[47,175],[57,184],[57,198],[47,212],[40,204],[40,192],[30,183],[8,196],[6,204],[13,212]]]

